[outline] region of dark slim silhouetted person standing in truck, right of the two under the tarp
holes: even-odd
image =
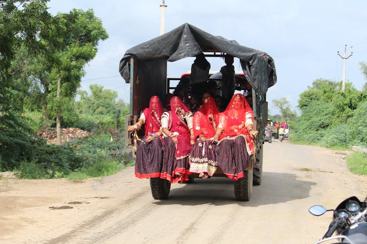
[[[222,85],[220,87],[222,90],[221,95],[223,97],[223,101],[227,105],[234,94],[236,79],[234,75],[233,56],[226,54],[224,56],[224,61],[226,65],[222,66],[220,70],[222,73]]]

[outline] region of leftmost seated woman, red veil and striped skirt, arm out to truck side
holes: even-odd
[[[140,113],[138,122],[129,125],[129,131],[139,130],[144,124],[144,136],[137,140],[137,159],[135,163],[135,176],[144,178],[157,178],[161,176],[162,142],[161,142],[161,116],[163,106],[158,96],[150,98],[149,107]]]

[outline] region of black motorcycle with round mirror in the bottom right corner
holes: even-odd
[[[333,220],[329,224],[325,235],[315,244],[333,239],[341,239],[340,244],[367,243],[367,197],[364,202],[354,196],[347,198],[335,210],[326,209],[321,205],[314,205],[308,211],[315,216],[320,216],[326,211],[333,211],[334,213]],[[335,231],[338,235],[332,236]]]

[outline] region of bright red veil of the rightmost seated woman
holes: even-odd
[[[223,126],[223,133],[221,139],[224,137],[234,137],[240,134],[250,136],[245,125],[246,116],[253,118],[253,112],[242,94],[234,94],[226,110],[220,113],[219,122]]]

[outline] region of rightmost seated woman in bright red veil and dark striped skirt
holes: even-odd
[[[242,94],[234,94],[226,110],[219,114],[219,124],[212,142],[217,142],[216,159],[223,173],[232,180],[244,177],[253,154],[253,112]]]

